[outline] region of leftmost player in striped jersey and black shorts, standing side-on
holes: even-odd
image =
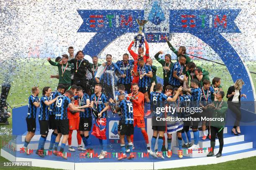
[[[27,128],[28,128],[28,133],[25,137],[25,143],[23,148],[26,150],[26,153],[29,155],[27,152],[28,144],[30,143],[30,140],[33,138],[36,132],[36,107],[40,106],[40,100],[38,97],[39,94],[39,88],[38,87],[32,87],[31,90],[32,94],[28,97],[28,115],[26,117],[26,122],[27,122]]]

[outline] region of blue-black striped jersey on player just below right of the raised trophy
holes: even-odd
[[[143,75],[144,73],[147,73],[152,71],[152,68],[149,65],[144,64],[142,67],[139,65],[137,68],[137,71],[139,73],[138,76]],[[150,84],[150,77],[143,76],[142,79],[139,79],[138,86],[139,87],[148,87]]]

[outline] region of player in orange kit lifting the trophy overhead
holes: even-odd
[[[139,47],[138,48],[138,54],[136,54],[133,50],[131,50],[131,47],[133,46],[135,40],[133,40],[131,42],[131,44],[128,47],[128,51],[130,52],[131,56],[133,57],[134,60],[134,67],[133,67],[133,72],[137,71],[138,68],[138,57],[143,57],[144,62],[146,62],[146,60],[149,58],[149,47],[148,47],[148,42],[145,39],[145,47],[146,47],[146,54],[144,55],[144,48],[143,47]],[[139,81],[139,77],[133,76],[133,83],[137,83],[138,84]]]

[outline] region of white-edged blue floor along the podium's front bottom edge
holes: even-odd
[[[145,151],[146,150],[134,150],[136,153]],[[100,150],[96,149],[95,152],[100,153]],[[115,150],[111,152],[114,153]],[[13,154],[6,151],[5,149],[1,149],[1,156],[11,161],[31,161],[32,166],[58,168],[65,170],[83,170],[84,167],[90,170],[157,170],[165,168],[207,165],[256,156],[256,149],[251,148],[246,150],[239,150],[236,152],[224,153],[221,158],[190,158],[184,156],[182,159],[180,159],[178,158],[178,155],[173,154],[172,158],[165,158],[164,160],[160,158],[152,158],[150,156],[138,158],[138,154],[137,158],[134,158],[133,160],[125,159],[118,161],[117,158],[113,157],[113,155],[111,155],[111,158],[99,160],[98,158],[79,158],[80,153],[80,151],[72,152],[71,157],[68,157],[67,160],[64,160],[63,158],[53,154],[48,155],[45,158],[40,158],[35,154],[35,150],[33,151],[33,154],[26,155],[25,153],[20,153],[20,151],[16,151]]]

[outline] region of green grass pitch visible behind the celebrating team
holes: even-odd
[[[99,62],[102,63],[103,61],[104,60],[101,59]],[[163,69],[161,65],[156,60],[153,61],[153,65],[157,66],[157,76],[163,78]],[[194,62],[196,65],[202,66],[210,73],[210,81],[213,77],[220,77],[225,93],[227,92],[228,87],[233,85],[230,73],[225,66],[202,60],[194,60]],[[249,70],[256,72],[256,62],[247,62],[246,65]],[[8,103],[14,107],[27,104],[28,96],[31,94],[31,87],[39,86],[40,90],[42,90],[42,88],[46,86],[55,89],[58,85],[57,79],[50,79],[50,75],[58,74],[57,67],[50,65],[46,59],[20,60],[20,66],[16,68],[14,72],[15,76],[7,99]],[[251,74],[251,76],[255,88],[256,75]],[[41,91],[39,96],[41,96]]]

